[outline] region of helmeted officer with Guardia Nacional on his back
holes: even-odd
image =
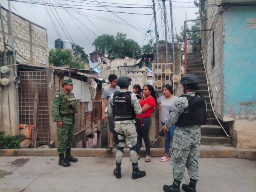
[[[116,148],[116,169],[114,176],[121,178],[121,163],[125,143],[130,148],[130,159],[132,162],[132,179],[138,179],[146,175],[145,171],[138,168],[136,152],[137,133],[135,128],[136,114],[141,114],[142,108],[138,98],[132,92],[128,92],[132,79],[127,76],[120,76],[117,85],[120,90],[111,95],[108,104],[108,113],[113,113],[115,118],[115,130],[113,133]]]

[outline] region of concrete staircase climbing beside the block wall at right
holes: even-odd
[[[201,144],[202,145],[232,145],[232,138],[226,136],[225,132],[216,120],[211,104],[207,88],[207,80],[204,72],[204,64],[201,52],[188,53],[187,74],[193,73],[199,78],[200,94],[207,102],[207,119],[206,125],[201,128]]]

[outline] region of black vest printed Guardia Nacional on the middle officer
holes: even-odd
[[[114,104],[114,116],[132,116],[132,118],[118,118],[118,120],[132,120],[135,119],[136,114],[134,112],[134,107],[132,106],[131,100],[132,92],[114,92],[113,104]]]

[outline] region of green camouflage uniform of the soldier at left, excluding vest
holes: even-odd
[[[63,89],[62,89],[63,90]],[[63,90],[64,92],[64,90]],[[69,97],[74,97],[72,92],[68,94]],[[75,98],[75,97],[74,97]],[[76,101],[76,100],[75,100]],[[72,148],[74,144],[74,133],[75,133],[75,114],[62,115],[60,113],[60,107],[66,103],[63,93],[59,90],[54,94],[52,100],[52,116],[53,121],[61,121],[62,127],[58,127],[58,153],[63,154],[65,149]],[[76,101],[77,105],[77,101]]]

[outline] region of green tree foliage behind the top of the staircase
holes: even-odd
[[[196,19],[200,19],[200,16],[197,16]],[[200,21],[193,21],[193,24],[190,26],[186,26],[186,31],[193,31],[193,30],[199,30],[199,25],[200,25]],[[182,58],[182,64],[184,64],[183,61],[183,56],[184,56],[184,44],[185,44],[185,39],[184,39],[184,26],[181,26],[181,33],[180,35],[177,35],[176,40],[177,42],[180,43],[180,54],[181,54],[181,58]],[[200,38],[200,32],[187,32],[186,33],[186,37],[188,38],[188,40],[194,40],[196,41],[196,39]]]

